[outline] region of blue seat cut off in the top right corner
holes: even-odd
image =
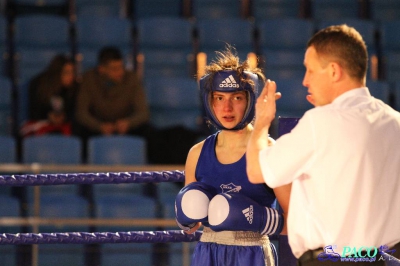
[[[370,10],[374,21],[400,19],[400,2],[397,0],[372,0]]]

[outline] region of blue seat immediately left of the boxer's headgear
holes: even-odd
[[[197,82],[191,78],[152,78],[145,82],[150,122],[159,128],[183,125],[196,129],[201,118]]]

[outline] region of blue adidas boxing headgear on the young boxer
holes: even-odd
[[[212,80],[210,80],[212,78]],[[251,80],[252,84],[248,81]],[[200,93],[203,107],[206,113],[207,123],[221,130],[240,130],[247,126],[254,118],[256,93],[258,92],[259,80],[254,73],[244,71],[239,77],[235,70],[221,70],[213,74],[205,75],[200,79]],[[212,92],[236,92],[247,93],[247,108],[242,120],[234,128],[225,128],[215,117],[212,109]]]

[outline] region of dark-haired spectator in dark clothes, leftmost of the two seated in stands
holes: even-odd
[[[22,137],[42,134],[71,134],[78,84],[71,58],[59,54],[29,83],[29,115]]]

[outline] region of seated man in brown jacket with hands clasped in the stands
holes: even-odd
[[[97,66],[82,76],[76,107],[80,135],[145,136],[148,120],[146,95],[138,77],[125,69],[117,48],[104,47]]]

